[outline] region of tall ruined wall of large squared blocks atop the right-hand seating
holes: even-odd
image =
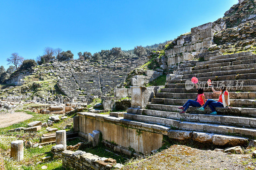
[[[162,69],[172,69],[172,65],[193,60],[200,53],[204,53],[214,44],[214,33],[221,28],[209,22],[201,26],[191,28],[191,33],[179,36],[172,43],[172,49],[165,51],[165,56],[158,59]]]

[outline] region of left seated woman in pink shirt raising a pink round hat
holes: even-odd
[[[197,84],[197,98],[196,100],[188,100],[182,107],[178,107],[179,109],[183,110],[180,113],[185,113],[189,106],[191,107],[202,107],[205,104],[205,97],[204,97],[204,89],[202,87],[198,87]]]

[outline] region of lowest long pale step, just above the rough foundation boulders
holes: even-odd
[[[124,119],[130,119],[139,122],[158,124],[163,126],[168,126],[176,128],[179,130],[189,130],[189,131],[198,131],[198,132],[207,132],[207,133],[216,133],[216,134],[234,134],[233,136],[256,136],[256,129],[249,128],[239,128],[236,126],[220,125],[213,123],[202,123],[202,122],[186,122],[186,121],[177,121],[173,119],[159,118],[153,116],[145,115],[134,115],[124,113]]]

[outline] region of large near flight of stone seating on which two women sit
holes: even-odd
[[[211,54],[204,55],[206,61],[203,62],[179,64],[171,80],[156,93],[146,109],[137,114],[128,111],[124,119],[169,127],[169,137],[174,139],[193,137],[196,141],[217,145],[246,145],[249,139],[255,139],[256,55],[251,52],[208,55]],[[208,79],[212,80],[215,90],[220,85],[226,85],[230,92],[231,109],[216,108],[218,115],[209,115],[209,107],[205,112],[190,107],[185,114],[180,114],[181,110],[177,107],[188,99],[195,100],[197,96],[195,87],[186,89],[186,81],[192,77],[198,78],[198,85],[204,88],[206,99],[218,100],[219,97],[207,86]]]

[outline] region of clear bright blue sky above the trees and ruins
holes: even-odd
[[[35,59],[44,47],[92,54],[151,45],[223,17],[238,0],[4,1],[0,0],[0,59],[13,52]]]

